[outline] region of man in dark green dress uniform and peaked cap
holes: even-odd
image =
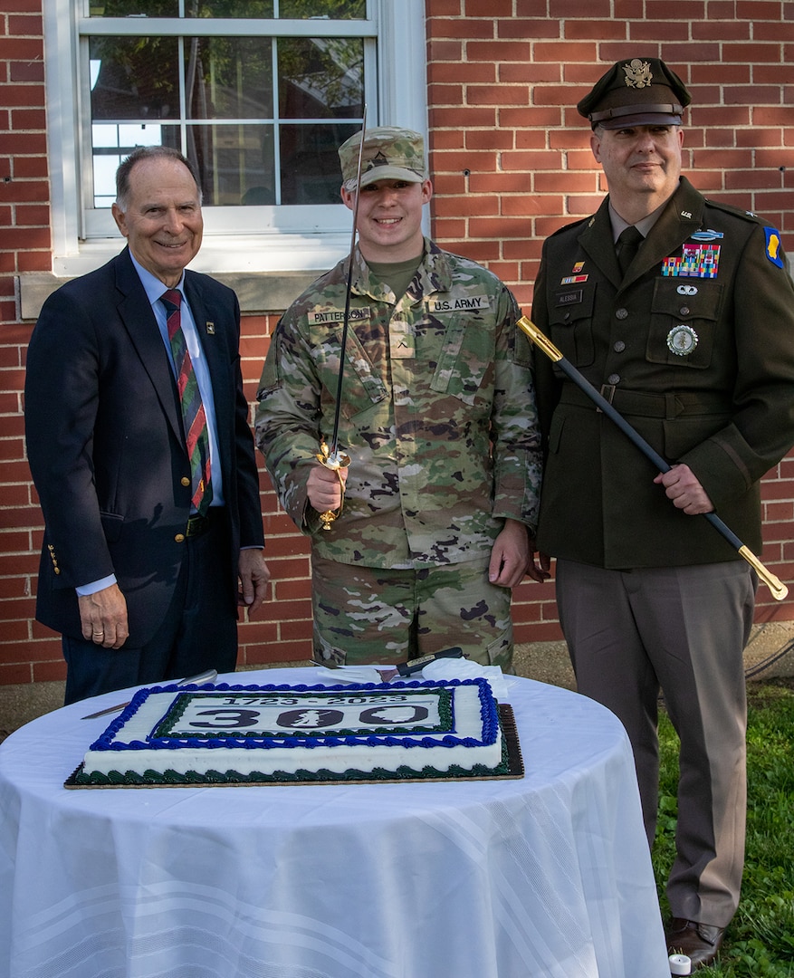
[[[545,243],[533,319],[672,466],[656,471],[536,356],[538,547],[557,560],[578,689],[631,738],[649,841],[660,688],[681,736],[668,943],[701,965],[739,899],[757,579],[697,516],[716,510],[760,552],[759,480],[794,443],[794,287],[766,221],[681,176],[689,101],[663,62],[634,58],[579,103],[609,196]]]

